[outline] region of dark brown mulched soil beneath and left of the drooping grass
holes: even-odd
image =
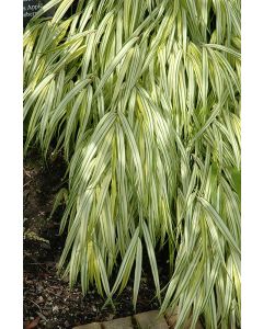
[[[59,236],[62,206],[49,219],[56,193],[67,182],[62,157],[44,163],[33,149],[24,161],[24,328],[72,328],[92,321],[105,321],[135,314],[133,282],[115,298],[115,309],[102,309],[104,299],[95,290],[84,297],[80,284],[73,290],[57,275],[56,264],[65,236]],[[163,259],[160,257],[160,259]],[[165,265],[160,263],[161,285],[168,281]],[[136,313],[157,309],[150,270],[142,273]]]

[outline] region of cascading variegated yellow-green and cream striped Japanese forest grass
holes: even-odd
[[[149,261],[175,328],[240,327],[239,0],[52,0],[24,31],[24,123],[25,154],[68,164],[71,286],[114,304],[132,279],[136,306]]]

